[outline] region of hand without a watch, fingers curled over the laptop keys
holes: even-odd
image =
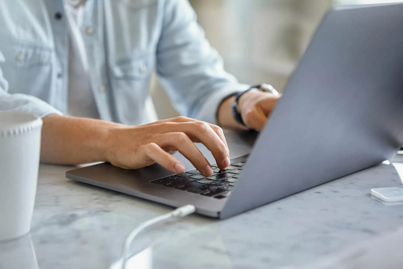
[[[169,151],[179,151],[203,176],[213,174],[213,167],[194,145],[203,143],[213,154],[217,167],[230,164],[229,149],[222,129],[216,125],[185,117],[160,120],[141,126],[118,125],[108,132],[106,143],[108,162],[114,166],[136,169],[154,162],[175,173],[185,166]],[[204,177],[199,175],[200,179]]]

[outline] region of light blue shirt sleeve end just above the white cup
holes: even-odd
[[[4,57],[0,51],[0,63],[4,62]],[[0,111],[18,111],[36,115],[44,118],[50,114],[62,114],[60,111],[49,105],[48,103],[25,94],[8,93],[8,84],[6,78],[3,77],[0,68]]]

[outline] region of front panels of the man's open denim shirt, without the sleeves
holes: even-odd
[[[81,33],[100,118],[141,124],[163,20],[162,0],[87,0]],[[62,0],[5,1],[1,68],[10,93],[67,113],[69,49]],[[147,120],[146,120],[147,121]]]

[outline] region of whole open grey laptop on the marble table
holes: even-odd
[[[227,170],[102,163],[66,177],[225,219],[389,160],[403,144],[402,14],[403,4],[330,10],[251,153]]]

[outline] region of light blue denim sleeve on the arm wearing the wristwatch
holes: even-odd
[[[249,87],[226,73],[187,0],[166,0],[157,73],[184,116],[216,124],[222,100]]]

